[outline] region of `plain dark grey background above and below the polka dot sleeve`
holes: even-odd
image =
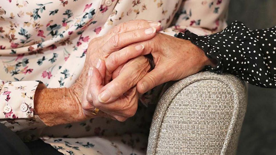
[[[238,20],[251,29],[276,25],[276,0],[231,0],[228,23]],[[248,106],[237,155],[276,154],[276,89],[249,85]]]

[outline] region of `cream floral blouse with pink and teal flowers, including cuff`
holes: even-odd
[[[209,35],[227,27],[228,4],[229,0],[1,0],[1,123],[24,140],[40,136],[63,154],[145,154],[147,137],[141,133],[149,129],[154,110],[150,104],[140,105],[126,122],[95,118],[45,127],[33,109],[37,86],[70,87],[84,66],[89,41],[119,23],[146,19],[159,21],[168,35],[186,30]],[[154,103],[156,96],[151,90],[140,102]]]

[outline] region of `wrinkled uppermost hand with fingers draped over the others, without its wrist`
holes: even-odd
[[[89,104],[86,100],[86,94],[88,86],[85,86],[87,81],[87,75],[89,68],[97,66],[99,60],[107,60],[107,71],[112,75],[120,65],[127,62],[131,58],[135,58],[141,55],[143,52],[142,45],[128,46],[132,43],[145,41],[155,36],[156,31],[160,29],[160,23],[145,21],[145,20],[133,20],[126,23],[121,23],[111,29],[106,35],[97,37],[90,41],[87,49],[85,65],[82,73],[76,83],[71,87],[74,98],[80,102],[83,109]],[[128,46],[128,47],[126,47]],[[77,102],[76,101],[76,102]],[[93,107],[90,107],[93,109]],[[91,111],[87,109],[86,114]],[[106,114],[101,113],[99,116]]]

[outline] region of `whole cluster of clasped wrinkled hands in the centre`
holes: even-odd
[[[135,114],[139,93],[213,65],[190,41],[157,33],[159,29],[160,23],[133,20],[90,42],[85,67],[77,81],[85,83],[81,104],[86,116],[95,117],[91,112],[97,107],[101,110],[97,116],[125,121]],[[153,55],[155,63],[150,72],[143,56],[146,54]]]

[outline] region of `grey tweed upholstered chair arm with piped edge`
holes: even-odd
[[[246,106],[245,84],[233,75],[180,80],[157,104],[147,155],[235,154]]]

